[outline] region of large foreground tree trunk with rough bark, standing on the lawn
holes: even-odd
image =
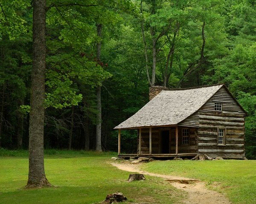
[[[46,0],[34,0],[33,7],[33,66],[29,119],[29,178],[27,187],[42,187],[51,185],[44,172]]]

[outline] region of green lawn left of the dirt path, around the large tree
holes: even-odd
[[[54,187],[25,190],[27,151],[2,149],[0,156],[0,204],[92,204],[117,191],[127,203],[180,203],[185,196],[160,178],[128,183],[128,172],[108,164],[113,153],[84,151],[46,151],[45,171]]]

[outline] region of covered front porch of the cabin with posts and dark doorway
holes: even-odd
[[[118,130],[118,156],[128,157],[193,157],[197,155],[197,128],[160,126],[137,128],[137,154],[123,154],[121,129]]]

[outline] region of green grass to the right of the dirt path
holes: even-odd
[[[143,164],[143,170],[198,178],[209,188],[227,195],[234,204],[256,204],[256,161],[154,161]]]

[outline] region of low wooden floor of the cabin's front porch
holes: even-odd
[[[164,157],[186,157],[186,156],[197,156],[197,153],[182,153],[182,154],[120,154],[119,158],[127,157],[155,157],[155,158],[164,158]]]

